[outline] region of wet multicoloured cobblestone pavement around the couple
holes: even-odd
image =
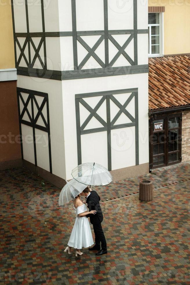
[[[150,202],[138,199],[144,178]],[[23,168],[0,172],[0,284],[190,284],[189,180],[180,163],[96,187],[108,254],[76,258],[64,252],[75,213],[58,206],[60,189]]]

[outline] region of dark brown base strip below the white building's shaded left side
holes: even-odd
[[[26,160],[23,160],[23,167],[30,170],[31,172],[39,175],[46,181],[49,181],[51,184],[55,185],[57,188],[62,189],[63,186],[66,184],[66,181],[61,177],[44,170],[39,166],[35,166],[33,163],[30,163]]]

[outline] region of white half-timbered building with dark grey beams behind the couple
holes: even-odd
[[[148,172],[148,5],[120,4],[12,0],[22,158],[55,184],[92,161]]]

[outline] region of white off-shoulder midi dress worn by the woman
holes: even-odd
[[[74,206],[74,205],[73,205]],[[75,207],[74,207],[75,209]],[[75,224],[73,226],[68,246],[81,249],[82,247],[89,247],[94,244],[90,223],[86,216],[80,217],[80,213],[88,211],[85,204],[78,206],[75,209],[77,217],[75,219]]]

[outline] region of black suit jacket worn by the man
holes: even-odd
[[[102,214],[102,209],[99,204],[100,197],[97,194],[96,191],[91,191],[91,194],[88,196],[86,199],[86,203],[88,204],[88,209],[89,211],[91,210],[96,210],[97,213],[94,214],[88,214],[86,217],[90,217],[90,222],[93,225],[99,224],[103,221],[103,214]]]

